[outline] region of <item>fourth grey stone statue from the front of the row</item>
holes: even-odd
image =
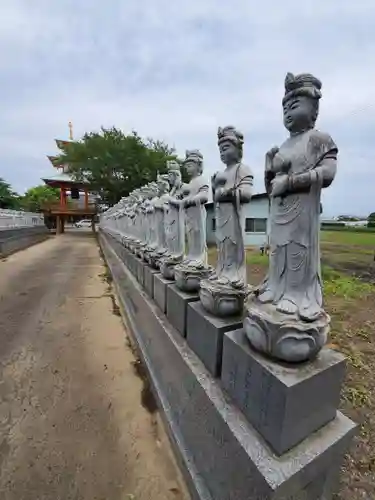
[[[164,227],[167,254],[160,262],[160,272],[165,279],[174,279],[174,268],[182,261],[185,248],[184,213],[181,208],[182,181],[180,165],[167,162],[168,179],[171,186],[164,205]]]

